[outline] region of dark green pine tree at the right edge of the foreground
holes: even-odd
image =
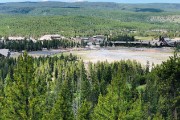
[[[157,67],[159,94],[165,99],[163,117],[179,119],[180,57],[175,53],[167,62]]]

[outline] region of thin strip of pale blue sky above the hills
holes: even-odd
[[[0,2],[23,2],[23,1],[62,1],[62,2],[118,2],[118,3],[180,3],[180,0],[0,0]]]

